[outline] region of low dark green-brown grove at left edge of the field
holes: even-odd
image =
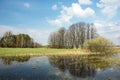
[[[34,42],[28,34],[14,35],[8,31],[1,37],[0,47],[34,48],[41,47],[41,45]]]

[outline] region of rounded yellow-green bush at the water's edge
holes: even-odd
[[[87,49],[92,52],[113,52],[113,43],[104,37],[97,37],[95,39],[89,40],[86,42],[86,46]]]

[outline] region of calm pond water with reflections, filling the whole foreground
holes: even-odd
[[[120,56],[1,57],[0,80],[120,80]]]

